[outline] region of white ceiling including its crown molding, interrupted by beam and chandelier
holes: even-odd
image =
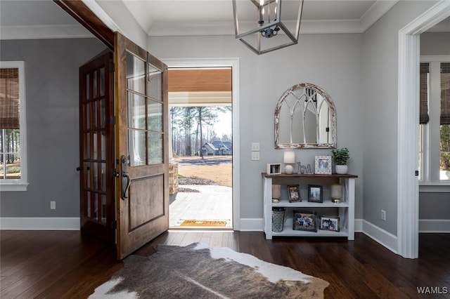
[[[234,35],[231,0],[84,2],[95,12],[121,13],[125,6],[148,36]],[[300,33],[365,32],[396,3],[397,0],[304,0]],[[0,26],[1,39],[91,36],[51,0],[1,0]],[[450,21],[436,28],[450,31]]]

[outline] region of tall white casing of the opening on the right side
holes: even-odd
[[[399,30],[397,251],[404,258],[418,258],[418,34],[449,15],[450,1],[441,0]]]

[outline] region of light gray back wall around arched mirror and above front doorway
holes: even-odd
[[[306,34],[299,44],[255,55],[234,36],[150,37],[149,51],[167,58],[239,58],[240,217],[262,218],[262,177],[267,163],[281,163],[274,149],[274,110],[283,92],[309,82],[335,103],[338,147],[350,150],[349,173],[356,180],[356,218],[362,218],[363,94],[361,34]],[[260,143],[260,161],[251,161],[251,142]],[[330,150],[295,150],[297,161],[314,165]]]

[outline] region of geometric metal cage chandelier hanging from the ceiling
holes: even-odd
[[[297,44],[303,0],[233,0],[236,39],[259,54]]]

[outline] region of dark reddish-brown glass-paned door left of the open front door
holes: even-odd
[[[115,244],[113,52],[79,68],[81,230]]]

